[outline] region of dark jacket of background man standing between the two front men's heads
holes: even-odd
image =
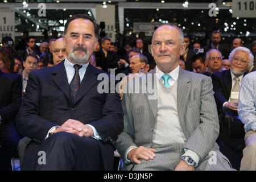
[[[105,53],[100,50],[98,53],[98,59],[96,60],[97,67],[101,67],[102,71],[108,72],[108,68],[118,68],[118,61],[121,57],[117,55],[117,53],[113,51],[108,51],[107,57],[105,57]]]

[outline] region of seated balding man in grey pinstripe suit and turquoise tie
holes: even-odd
[[[215,142],[219,125],[211,79],[179,67],[183,41],[179,28],[159,27],[151,45],[156,68],[136,78],[135,86],[146,86],[146,92],[123,94],[124,129],[115,146],[124,170],[232,169]]]

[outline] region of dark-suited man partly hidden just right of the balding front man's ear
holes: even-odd
[[[186,44],[186,49],[180,59],[185,61],[186,69],[192,71],[192,57],[195,55],[195,51],[189,49],[190,40],[187,35],[184,36],[184,43]]]

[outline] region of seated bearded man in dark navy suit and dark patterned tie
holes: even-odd
[[[117,93],[99,90],[98,75],[110,75],[89,63],[98,38],[93,22],[88,15],[69,18],[65,60],[30,72],[17,117],[20,133],[32,139],[22,169],[113,169],[110,140],[123,129],[123,113]]]

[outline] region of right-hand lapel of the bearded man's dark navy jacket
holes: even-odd
[[[94,84],[96,84],[98,73],[100,72],[97,72],[97,69],[89,63],[88,67],[86,68],[84,78],[82,79],[79,91],[77,92],[77,98],[73,105],[75,105],[88,92],[88,90],[92,88]]]

